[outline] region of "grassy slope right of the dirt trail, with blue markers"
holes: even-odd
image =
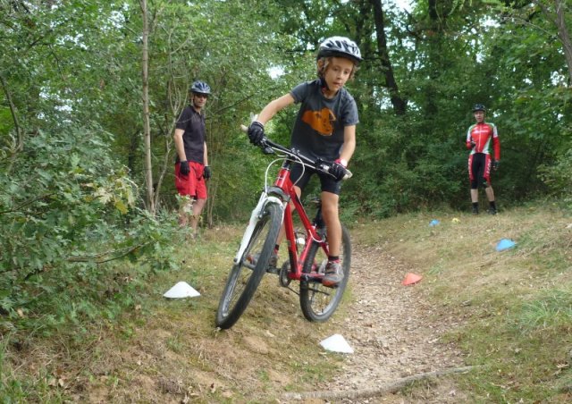
[[[429,227],[433,218],[441,223]],[[408,257],[427,299],[465,319],[448,338],[478,366],[457,376],[472,400],[564,402],[572,399],[570,223],[558,208],[524,206],[497,216],[405,215],[355,236]],[[517,246],[497,252],[503,238]]]

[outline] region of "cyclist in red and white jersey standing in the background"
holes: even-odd
[[[491,165],[498,170],[501,162],[501,141],[494,123],[484,122],[486,108],[482,104],[475,104],[473,114],[476,123],[467,130],[467,148],[471,150],[468,156],[468,177],[471,181],[471,202],[473,215],[479,214],[479,185],[484,187],[486,197],[489,199],[489,214],[497,214],[494,200],[494,191],[491,186]],[[494,162],[491,160],[491,142],[494,149]]]

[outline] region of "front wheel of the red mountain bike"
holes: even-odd
[[[266,272],[281,225],[280,206],[266,205],[248,240],[248,247],[240,261],[232,265],[216,312],[218,327],[231,328],[244,313]]]

